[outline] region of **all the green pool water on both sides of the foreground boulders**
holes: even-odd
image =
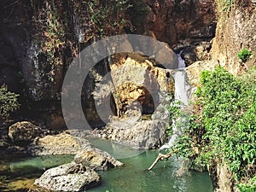
[[[125,166],[99,172],[102,185],[86,190],[88,192],[212,192],[212,182],[207,172],[189,171],[178,177],[182,160],[176,157],[160,161],[149,172],[148,167],[158,155],[157,150],[137,151],[96,138],[91,138],[90,142],[108,151]],[[72,160],[73,155],[57,155],[1,162],[0,191],[26,191],[46,169]]]

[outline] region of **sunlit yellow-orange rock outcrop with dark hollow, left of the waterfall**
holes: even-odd
[[[177,65],[177,60],[173,62]],[[119,117],[127,108],[134,107],[134,102],[140,105],[142,113],[154,113],[160,104],[160,94],[174,92],[170,71],[157,65],[143,55],[128,55],[122,64],[113,63],[110,66],[113,99]]]

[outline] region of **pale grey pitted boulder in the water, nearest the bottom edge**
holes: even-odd
[[[101,177],[93,170],[75,162],[44,172],[35,184],[53,191],[84,191],[99,185]]]

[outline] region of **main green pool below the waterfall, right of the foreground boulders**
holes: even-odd
[[[212,181],[207,172],[183,172],[181,177],[177,172],[182,160],[172,157],[169,160],[160,161],[152,171],[148,167],[158,155],[157,150],[142,151],[121,150],[118,144],[104,140],[91,140],[94,146],[104,148],[113,156],[127,157],[119,159],[125,166],[114,168],[107,172],[100,172],[102,185],[89,192],[212,192]]]

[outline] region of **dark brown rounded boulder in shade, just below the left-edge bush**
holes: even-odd
[[[9,126],[9,138],[20,146],[32,143],[36,137],[44,137],[47,131],[29,121],[20,121]]]

